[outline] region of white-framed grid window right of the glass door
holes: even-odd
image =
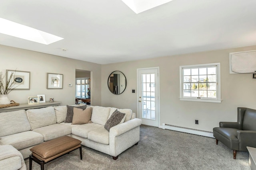
[[[180,100],[220,103],[220,63],[180,66]]]

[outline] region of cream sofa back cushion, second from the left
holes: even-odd
[[[56,123],[56,115],[53,106],[40,109],[28,109],[26,112],[31,130]]]

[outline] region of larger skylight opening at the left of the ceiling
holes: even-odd
[[[9,21],[4,18],[0,18],[0,25],[0,33],[46,45],[63,39],[62,37]]]

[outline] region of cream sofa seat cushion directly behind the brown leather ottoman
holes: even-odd
[[[71,134],[71,127],[61,124],[53,124],[34,129],[33,131],[43,135],[44,141],[50,141],[57,137]]]

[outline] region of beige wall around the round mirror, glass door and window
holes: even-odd
[[[256,46],[102,65],[102,106],[130,108],[137,113],[137,68],[159,66],[160,125],[212,131],[219,121],[236,121],[237,107],[256,109],[256,79],[252,79],[252,73],[229,74],[229,53],[254,49]],[[221,104],[180,101],[179,66],[205,63],[221,64],[223,101]],[[112,94],[107,86],[107,78],[114,70],[123,72],[127,79],[126,90],[120,95]],[[195,119],[199,120],[198,125]]]

